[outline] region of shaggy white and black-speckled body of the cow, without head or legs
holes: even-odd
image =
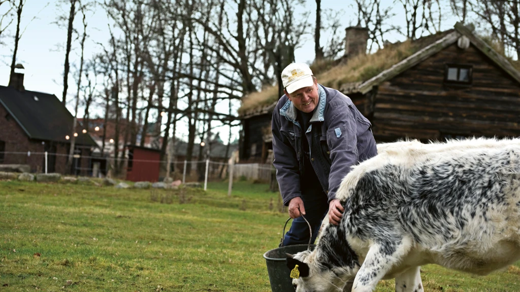
[[[383,153],[355,168],[356,184],[342,185],[349,236],[405,236],[433,262],[480,274],[516,260],[520,144],[484,142]]]

